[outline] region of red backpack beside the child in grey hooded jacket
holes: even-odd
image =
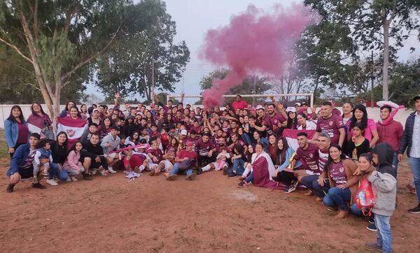
[[[375,196],[372,189],[372,184],[367,179],[360,181],[354,202],[356,207],[360,209],[365,216],[370,216],[370,210],[374,207]]]

